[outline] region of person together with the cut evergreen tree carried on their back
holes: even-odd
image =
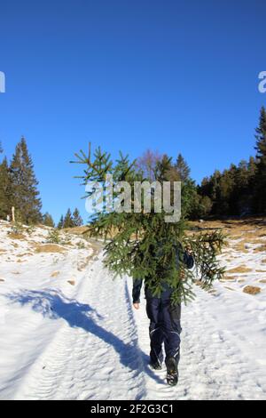
[[[121,154],[113,162],[110,154],[101,149],[97,149],[92,157],[90,147],[88,155],[81,150],[75,156],[77,163],[85,165],[82,180],[89,199],[97,200],[95,189],[98,184],[105,183],[106,176],[112,176],[111,195],[115,205],[121,203],[119,210],[110,210],[109,198],[106,199],[108,205],[102,205],[102,209],[93,214],[87,233],[90,237],[106,239],[104,262],[114,276],[133,278],[133,301],[137,309],[141,286],[145,282],[147,314],[151,321],[151,365],[154,369],[160,368],[161,346],[164,342],[168,384],[176,385],[181,303],[194,298],[194,280],[200,280],[202,287],[209,288],[215,279],[223,277],[224,269],[216,258],[224,243],[223,234],[221,231],[214,231],[195,235],[192,230],[187,233],[190,227],[186,218],[193,198],[190,179],[182,182],[180,220],[168,222],[166,214],[169,213],[164,207],[161,211],[156,209],[158,202],[155,202],[155,198],[151,199],[151,210],[147,211],[143,205],[143,195],[139,201],[134,192],[121,192],[121,183],[122,188],[126,184],[128,189],[134,190],[136,183],[151,180],[146,178],[145,170],[139,169],[135,161],[131,163],[129,157]],[[172,165],[171,158],[167,156],[156,160],[152,169],[153,174],[148,170],[148,175],[162,187],[165,181],[173,186],[174,181],[180,181],[178,167]],[[91,182],[92,188],[87,189]],[[110,189],[110,181],[106,181],[105,189]],[[110,191],[107,191],[107,197],[108,193]],[[99,196],[101,201],[102,194],[99,193]],[[152,192],[150,197],[153,197]],[[138,210],[132,212],[136,203],[141,205],[137,205]],[[184,251],[184,248],[189,248],[190,251]],[[196,268],[192,269],[194,262]]]

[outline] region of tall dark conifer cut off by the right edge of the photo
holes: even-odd
[[[257,213],[266,213],[266,109],[262,108],[259,127],[256,128],[256,162],[254,207]]]

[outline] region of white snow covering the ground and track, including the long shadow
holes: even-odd
[[[266,399],[263,253],[225,250],[229,269],[251,269],[238,274],[244,284],[217,283],[215,293],[195,286],[171,388],[165,368],[148,366],[144,295],[133,310],[130,277],[113,282],[99,245],[80,249],[82,238],[68,235],[63,253],[35,253],[49,229],[21,240],[9,230],[1,221],[0,399]],[[262,293],[243,293],[244,285]]]

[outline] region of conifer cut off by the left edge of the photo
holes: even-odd
[[[6,220],[12,213],[12,181],[6,157],[0,163],[0,218]]]

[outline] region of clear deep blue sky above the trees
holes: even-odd
[[[2,1],[0,140],[11,157],[26,137],[43,212],[84,214],[68,162],[88,141],[181,152],[198,182],[253,155],[265,15],[265,0]]]

